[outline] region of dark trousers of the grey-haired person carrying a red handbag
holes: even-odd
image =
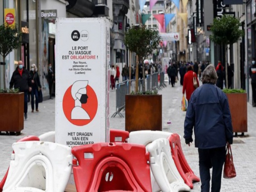
[[[199,170],[201,192],[210,192],[210,168],[212,168],[212,190],[220,192],[222,167],[226,157],[226,147],[199,149]]]

